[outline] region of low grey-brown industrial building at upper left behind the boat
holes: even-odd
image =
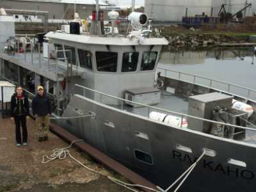
[[[76,3],[76,6],[75,4]],[[99,1],[102,6],[108,4]],[[73,19],[74,9],[81,19],[92,15],[95,0],[0,0],[0,7],[19,10],[40,10],[49,12],[49,19]],[[104,14],[106,16],[106,14]]]

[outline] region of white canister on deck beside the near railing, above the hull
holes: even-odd
[[[181,118],[180,116],[168,115],[165,113],[159,113],[156,111],[152,111],[149,114],[149,118],[151,120],[156,120],[159,122],[163,122],[175,128],[188,128],[188,122],[185,118]]]

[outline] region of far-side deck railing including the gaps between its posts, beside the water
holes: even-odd
[[[256,102],[256,90],[241,86],[234,83],[227,83],[218,79],[211,79],[209,77],[202,77],[195,74],[188,74],[186,72],[179,72],[176,70],[170,70],[166,68],[157,68],[157,72],[161,72],[162,77],[171,77],[172,79],[186,81],[192,84],[198,84],[207,88],[213,88],[220,92],[226,92],[237,97],[241,97],[246,100],[252,100]],[[201,81],[201,82],[200,82]]]

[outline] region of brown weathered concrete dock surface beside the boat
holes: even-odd
[[[28,146],[15,146],[14,122],[0,118],[0,191],[128,191],[106,178],[92,173],[72,159],[42,164],[42,156],[53,148],[67,147],[68,143],[50,133],[49,141],[38,142],[33,120],[28,121]],[[70,148],[72,156],[94,170],[119,175],[90,160],[86,154]]]

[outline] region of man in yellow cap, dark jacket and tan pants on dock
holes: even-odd
[[[37,87],[37,95],[32,101],[32,111],[36,118],[36,126],[38,129],[38,141],[48,140],[51,100],[44,92],[42,86]]]

